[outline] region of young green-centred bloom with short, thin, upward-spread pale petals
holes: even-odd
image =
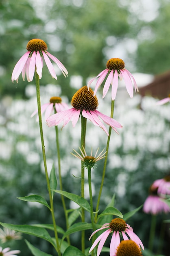
[[[73,149],[73,150],[74,150],[74,149]],[[100,152],[100,154],[97,156],[97,153],[98,153],[99,148],[97,149],[96,154],[94,155],[94,157],[92,156],[92,154],[93,154],[93,149],[91,150],[90,156],[87,155],[87,153],[86,153],[84,147],[83,147],[83,150],[81,150],[81,148],[79,148],[79,150],[81,151],[81,154],[82,154],[82,155],[80,155],[76,150],[74,150],[74,152],[75,152],[76,154],[73,154],[73,153],[71,153],[71,154],[74,155],[74,157],[77,157],[77,158],[81,159],[81,161],[84,162],[84,166],[85,166],[86,168],[89,168],[89,167],[90,167],[90,168],[94,168],[95,163],[96,163],[97,161],[103,159],[103,158],[105,157],[105,154],[106,154],[106,152],[103,153],[103,151],[105,150],[105,149],[103,149],[102,152]],[[103,154],[102,154],[102,153],[103,153]]]

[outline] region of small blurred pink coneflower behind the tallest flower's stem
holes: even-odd
[[[52,110],[55,108],[56,112],[61,112],[65,109],[68,109],[68,105],[65,102],[62,102],[62,99],[60,97],[51,97],[50,102],[45,103],[41,106],[41,114],[45,112],[45,121],[47,120],[48,117],[50,117]],[[35,116],[37,114],[38,110],[35,110],[31,117]],[[37,119],[38,121],[38,115]]]

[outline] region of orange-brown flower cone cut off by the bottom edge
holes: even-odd
[[[116,256],[142,256],[142,252],[134,241],[122,240],[118,245]]]

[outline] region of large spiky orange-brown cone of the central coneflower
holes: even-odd
[[[87,86],[83,86],[81,89],[79,89],[72,97],[72,106],[76,110],[96,110],[98,107],[98,99],[95,96],[93,96],[94,92],[91,88],[87,88]]]

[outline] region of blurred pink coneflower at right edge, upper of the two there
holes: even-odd
[[[163,179],[155,180],[152,188],[157,188],[157,193],[160,195],[170,195],[170,175],[165,176]]]

